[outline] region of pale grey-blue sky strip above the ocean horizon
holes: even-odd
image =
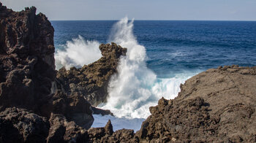
[[[256,0],[0,0],[49,20],[256,20]]]

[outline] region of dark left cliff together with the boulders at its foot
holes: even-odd
[[[35,7],[0,3],[0,142],[79,141],[93,123],[83,96],[53,93],[53,32]]]

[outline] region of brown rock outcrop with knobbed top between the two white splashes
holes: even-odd
[[[62,68],[58,71],[56,79],[58,89],[63,90],[67,95],[83,95],[95,107],[107,100],[110,76],[116,73],[120,56],[127,53],[127,48],[115,43],[102,44],[99,50],[102,52],[102,58],[98,61],[80,69]]]

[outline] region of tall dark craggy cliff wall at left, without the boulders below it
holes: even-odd
[[[0,3],[0,110],[40,107],[56,79],[53,26],[36,8],[21,12]]]

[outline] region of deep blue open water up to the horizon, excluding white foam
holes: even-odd
[[[106,43],[116,22],[51,21],[56,49],[78,35]],[[148,68],[158,77],[232,64],[256,65],[255,21],[135,20],[133,31],[146,47]]]

